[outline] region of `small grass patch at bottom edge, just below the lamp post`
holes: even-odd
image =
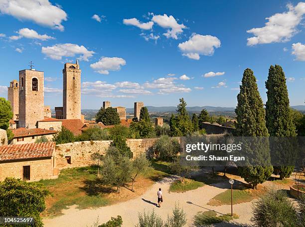
[[[217,223],[229,222],[238,218],[239,216],[236,214],[233,214],[233,216],[231,216],[231,214],[217,216],[215,211],[205,211],[195,215],[194,225],[196,227],[209,226]]]

